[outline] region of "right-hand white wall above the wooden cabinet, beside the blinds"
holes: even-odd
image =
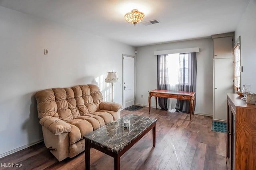
[[[251,84],[256,93],[256,0],[251,0],[235,31],[236,39],[241,36],[241,84]]]

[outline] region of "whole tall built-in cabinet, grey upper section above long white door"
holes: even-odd
[[[233,93],[234,33],[212,35],[213,57],[213,119],[227,120],[227,93]]]

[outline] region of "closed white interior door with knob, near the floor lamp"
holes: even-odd
[[[123,107],[134,105],[134,57],[123,55]]]

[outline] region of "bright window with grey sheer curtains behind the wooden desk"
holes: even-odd
[[[196,92],[196,53],[157,55],[158,89]],[[162,109],[188,112],[189,102],[164,98],[158,100]]]

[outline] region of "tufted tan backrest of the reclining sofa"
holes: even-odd
[[[70,121],[99,110],[103,97],[94,84],[72,88],[51,88],[35,94],[38,117],[52,116]]]

